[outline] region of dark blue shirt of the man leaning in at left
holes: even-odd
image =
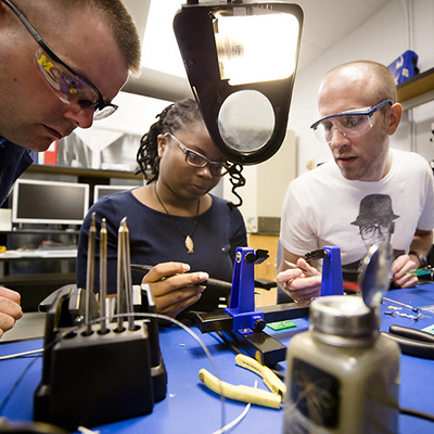
[[[8,197],[15,180],[33,163],[29,151],[0,136],[0,205]]]

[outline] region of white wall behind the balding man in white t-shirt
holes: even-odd
[[[412,1],[412,47],[409,47],[404,0],[394,0],[384,7],[344,40],[323,52],[308,67],[298,72],[295,79],[289,128],[295,131],[298,143],[298,175],[306,171],[306,163],[321,163],[330,158],[327,145],[318,142],[309,126],[318,118],[317,91],[323,75],[334,66],[353,60],[368,59],[391,64],[408,49],[419,55],[421,72],[434,67],[434,1]],[[339,13],[339,12],[337,12]],[[308,16],[305,16],[308,20]],[[410,111],[411,112],[411,111]],[[416,143],[413,150],[426,159],[434,158],[430,142],[431,123],[434,122],[434,103],[421,105],[406,112],[392,146],[411,150],[409,116],[413,117]]]

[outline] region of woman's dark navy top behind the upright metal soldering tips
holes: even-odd
[[[148,207],[130,191],[101,197],[89,210],[78,240],[77,285],[86,286],[88,231],[92,213],[97,216],[95,291],[99,289],[99,232],[101,220],[107,227],[107,292],[116,292],[117,232],[119,222],[127,217],[130,235],[131,264],[156,265],[181,261],[191,271],[206,271],[212,278],[231,282],[233,257],[237,247],[246,246],[246,230],[239,209],[230,209],[228,202],[213,196],[208,210],[199,216],[196,229],[191,237],[194,253],[188,254],[184,239],[191,232],[195,217],[168,216]],[[182,233],[181,233],[182,231]],[[132,283],[140,284],[144,273],[132,272]],[[205,290],[195,309],[209,304],[217,307],[218,295]],[[209,309],[209,306],[206,310]]]

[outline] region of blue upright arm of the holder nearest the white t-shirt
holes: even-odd
[[[321,296],[344,295],[340,247],[324,247],[322,259]]]

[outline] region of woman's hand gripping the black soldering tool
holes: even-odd
[[[151,285],[158,314],[175,318],[201,298],[205,290],[201,283],[209,276],[202,271],[188,272],[189,270],[188,264],[163,263],[144,276],[142,283]]]

